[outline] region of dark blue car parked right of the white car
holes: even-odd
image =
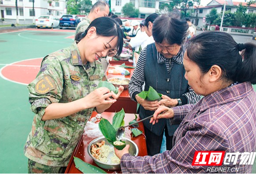
[[[77,24],[80,22],[80,19],[77,15],[63,15],[60,19],[59,27],[77,27]]]

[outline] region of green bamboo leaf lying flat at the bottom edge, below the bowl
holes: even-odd
[[[80,158],[74,157],[74,163],[76,168],[83,174],[107,174],[101,168],[88,164],[82,161]]]

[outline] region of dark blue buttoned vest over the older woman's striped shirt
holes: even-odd
[[[188,81],[185,79],[185,69],[183,64],[174,62],[173,67],[168,74],[165,62],[158,64],[157,50],[155,43],[147,46],[147,58],[145,67],[145,91],[152,86],[158,93],[167,95],[170,98],[179,98],[182,94],[189,92]],[[145,110],[140,106],[139,116],[141,119],[154,114],[154,111]],[[157,124],[152,125],[149,120],[143,121],[145,127],[154,134],[160,136],[167,124],[168,135],[173,136],[179,125],[170,125],[167,119],[160,119]]]

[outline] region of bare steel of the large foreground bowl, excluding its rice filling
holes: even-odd
[[[110,147],[114,148],[112,144],[108,143],[108,141],[106,140],[105,137],[98,137],[96,139],[94,139],[93,141],[91,141],[91,143],[88,145],[87,147],[87,151],[88,154],[90,155],[90,157],[94,160],[94,162],[101,168],[107,169],[107,170],[111,170],[111,171],[116,171],[116,170],[120,170],[121,166],[120,163],[119,164],[110,164],[110,163],[104,163],[102,161],[97,160],[96,158],[94,158],[91,154],[91,145],[92,144],[96,144],[99,143],[101,141],[105,141],[106,145],[109,145]],[[129,154],[131,154],[132,156],[138,156],[138,146],[137,144],[135,144],[135,142],[131,141],[128,138],[122,138],[122,141],[125,141],[126,144],[130,145],[129,148]]]

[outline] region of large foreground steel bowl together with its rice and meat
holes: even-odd
[[[122,138],[122,141],[130,145],[129,154],[138,156],[138,146],[135,142],[125,137]],[[121,169],[120,159],[115,155],[113,145],[108,143],[105,137],[98,137],[91,141],[87,151],[99,167],[112,171]]]

